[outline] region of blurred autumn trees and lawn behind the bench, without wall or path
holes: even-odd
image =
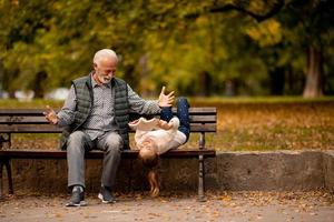
[[[333,149],[330,2],[0,0],[0,94],[9,97],[0,108],[61,108],[48,93],[88,74],[94,53],[110,48],[120,57],[117,75],[144,98],[167,85],[193,107],[217,107],[209,148]],[[35,99],[19,102],[17,91]],[[58,135],[13,141],[20,149],[57,143]]]

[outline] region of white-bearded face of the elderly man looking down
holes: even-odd
[[[99,84],[108,84],[115,77],[117,70],[117,60],[114,58],[101,59],[99,63],[94,64],[95,79]]]

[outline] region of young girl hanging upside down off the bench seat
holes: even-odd
[[[135,141],[139,149],[139,159],[149,168],[148,182],[151,196],[159,194],[159,182],[155,167],[159,155],[176,149],[189,138],[189,104],[187,99],[177,100],[177,117],[173,117],[171,108],[163,108],[159,119],[139,118],[129,123],[136,130]]]

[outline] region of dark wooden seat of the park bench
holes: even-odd
[[[214,158],[215,150],[170,150],[160,155],[160,158],[198,158],[202,154],[205,158]],[[121,152],[122,159],[136,159],[138,157],[137,150],[125,150]],[[66,159],[66,151],[61,150],[0,150],[0,159]],[[104,152],[91,151],[86,153],[86,159],[101,159]]]

